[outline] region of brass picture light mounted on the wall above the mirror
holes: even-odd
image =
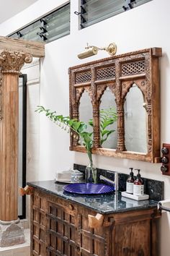
[[[109,55],[114,56],[117,51],[117,46],[115,43],[110,43],[107,47],[99,48],[97,46],[88,46],[87,44],[85,49],[86,51],[83,51],[81,54],[77,55],[79,59],[84,59],[96,55],[99,50],[107,51]]]

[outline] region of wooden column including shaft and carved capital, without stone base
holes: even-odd
[[[0,220],[18,218],[18,120],[19,73],[32,56],[3,51],[0,55],[2,74],[0,120]]]

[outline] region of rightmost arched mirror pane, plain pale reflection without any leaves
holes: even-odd
[[[143,93],[133,84],[125,98],[125,146],[128,151],[147,153],[147,112]]]

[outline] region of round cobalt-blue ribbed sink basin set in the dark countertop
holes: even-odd
[[[81,195],[105,194],[113,192],[115,189],[106,184],[94,183],[72,183],[63,187],[63,190],[69,193]]]

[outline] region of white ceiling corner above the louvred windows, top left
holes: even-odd
[[[37,0],[0,0],[0,23],[22,12]]]

